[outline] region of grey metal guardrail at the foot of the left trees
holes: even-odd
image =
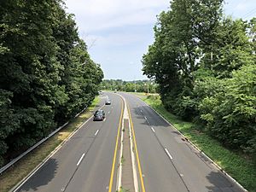
[[[78,117],[81,113],[84,112],[84,110],[87,108],[87,106],[85,106],[85,108],[80,112],[77,113],[74,118]],[[29,154],[33,149],[37,148],[39,145],[41,145],[42,143],[44,143],[45,141],[47,141],[50,137],[54,136],[55,133],[57,133],[58,131],[60,131],[63,127],[65,127],[67,124],[69,123],[69,121],[67,121],[67,123],[65,123],[64,125],[61,125],[59,128],[57,128],[55,131],[51,132],[49,134],[48,137],[44,137],[42,140],[40,140],[38,143],[34,144],[31,148],[28,148],[24,153],[20,154],[18,157],[16,157],[14,160],[9,161],[8,164],[6,164],[5,166],[1,167],[0,169],[0,175],[5,172],[7,169],[9,169],[10,166],[13,166],[17,161],[19,161],[21,158],[23,158],[24,156],[26,156],[26,154]]]

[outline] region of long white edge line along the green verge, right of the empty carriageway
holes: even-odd
[[[133,96],[133,95],[131,95],[131,94],[129,94],[129,95],[130,95],[130,96]],[[137,97],[137,98],[140,99],[142,102],[144,102],[140,97],[138,97],[138,96],[135,96],[135,97]],[[146,102],[144,102],[144,103],[145,103],[149,108],[151,108],[151,106],[149,106],[148,103],[146,103]],[[167,124],[171,125],[172,128],[174,128],[177,132],[179,132],[184,138],[187,138],[187,137],[185,137],[185,136],[183,135],[183,133],[182,133],[181,131],[178,131],[177,128],[176,128],[174,125],[172,125],[172,123],[170,123],[166,118],[164,118],[164,117],[163,117],[160,113],[158,113],[154,108],[151,108],[151,109],[152,109],[155,113],[157,113],[162,119],[164,119]],[[198,150],[201,154],[205,155],[205,156],[207,157],[207,159],[210,160],[210,161],[212,162],[212,164],[213,164],[214,166],[216,166],[220,172],[223,172],[224,175],[226,175],[228,178],[230,178],[230,180],[233,181],[234,183],[236,183],[242,190],[248,192],[247,189],[245,189],[240,183],[238,183],[235,178],[231,177],[229,173],[225,172],[225,171],[223,170],[223,168],[221,168],[220,166],[218,166],[217,163],[215,163],[210,157],[208,157],[207,154],[205,154],[200,148],[196,147],[194,143],[190,142],[189,139],[188,139],[188,142],[189,142],[194,148],[196,148],[196,150]]]

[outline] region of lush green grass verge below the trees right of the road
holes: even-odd
[[[222,167],[225,172],[228,172],[238,183],[241,183],[245,189],[250,192],[256,192],[256,163],[253,160],[243,154],[237,154],[224,148],[221,143],[207,136],[206,133],[199,131],[200,129],[196,129],[199,125],[185,122],[169,113],[160,101],[160,96],[136,95],[165,117],[178,131],[181,131],[185,137],[217,163],[218,166]]]

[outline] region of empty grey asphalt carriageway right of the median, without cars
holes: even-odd
[[[242,191],[152,108],[122,95],[130,106],[146,192]]]

